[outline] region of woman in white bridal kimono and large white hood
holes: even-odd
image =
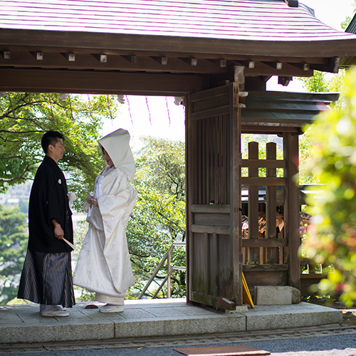
[[[134,278],[127,248],[125,227],[135,205],[137,192],[130,184],[135,161],[126,130],[116,130],[98,141],[105,169],[88,195],[88,233],[75,266],[73,284],[95,292],[95,300],[107,303],[102,313],[124,310],[124,297]]]

